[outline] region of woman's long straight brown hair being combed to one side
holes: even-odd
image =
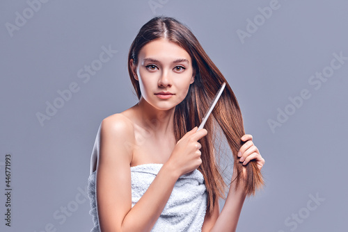
[[[209,108],[212,99],[214,99],[216,92],[221,87],[221,84],[226,82],[226,88],[223,90],[221,98],[216,103],[212,115],[205,124],[205,129],[207,129],[208,133],[200,139],[200,144],[202,144],[200,149],[202,164],[198,169],[202,172],[207,187],[208,213],[212,213],[216,197],[225,198],[224,192],[226,190],[226,183],[223,181],[219,165],[214,157],[216,156],[213,144],[215,123],[217,122],[221,127],[232,151],[234,165],[237,170],[237,177],[233,181],[237,181],[237,189],[242,181],[242,163],[239,163],[239,157],[237,156],[237,152],[244,144],[240,139],[245,134],[242,113],[235,94],[230,85],[228,85],[226,78],[223,77],[223,74],[207,56],[207,53],[205,53],[189,28],[173,17],[157,16],[150,19],[149,22],[141,27],[129,49],[128,72],[139,99],[141,97],[139,81],[136,81],[133,76],[129,60],[133,59],[134,65],[137,65],[141,48],[148,42],[158,38],[165,38],[168,41],[175,42],[185,49],[191,56],[193,74],[195,75],[195,81],[190,85],[187,97],[175,107],[173,126],[177,141],[187,131],[191,131],[194,126],[198,126],[202,122],[202,118]],[[250,196],[255,194],[256,189],[264,185],[264,181],[254,160],[251,160],[246,165],[246,174],[245,185],[243,185],[244,192],[246,192],[247,196]]]

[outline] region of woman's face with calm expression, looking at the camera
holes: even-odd
[[[139,81],[141,96],[159,110],[171,109],[187,96],[194,81],[189,53],[166,39],[145,44],[139,51],[139,62],[133,65],[134,78]],[[171,94],[162,95],[159,92]]]

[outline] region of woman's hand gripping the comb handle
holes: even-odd
[[[166,162],[173,169],[173,172],[179,175],[178,177],[192,172],[202,163],[200,159],[202,145],[198,140],[207,135],[208,131],[206,129],[197,130],[198,127],[196,126],[177,141],[171,156]]]

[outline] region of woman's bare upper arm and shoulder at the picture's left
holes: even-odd
[[[130,163],[134,133],[122,115],[102,121],[97,161],[97,211],[102,231],[118,231],[132,208]]]

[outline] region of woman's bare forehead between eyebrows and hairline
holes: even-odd
[[[187,59],[191,64],[191,57],[185,49],[175,42],[160,38],[145,44],[139,51],[139,60],[144,58],[155,58],[161,62],[171,62],[177,59]]]

